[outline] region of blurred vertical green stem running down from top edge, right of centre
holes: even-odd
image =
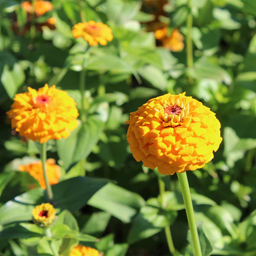
[[[188,6],[190,5],[190,0],[188,0]],[[190,6],[189,6],[190,8]],[[186,32],[186,56],[187,56],[187,66],[189,69],[193,68],[193,44],[192,44],[192,25],[193,25],[193,16],[191,12],[191,8],[189,9],[189,15],[187,17],[187,32]],[[191,76],[189,76],[189,83],[191,84],[193,82],[193,79]]]

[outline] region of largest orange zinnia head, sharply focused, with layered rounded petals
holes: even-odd
[[[150,99],[126,123],[135,160],[161,174],[202,168],[222,141],[215,113],[185,93]]]

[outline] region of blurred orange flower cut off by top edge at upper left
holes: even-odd
[[[32,14],[33,12],[33,6],[31,1],[25,1],[21,3],[22,9],[24,9],[28,14]],[[36,16],[42,16],[46,12],[49,12],[53,9],[53,5],[49,1],[43,1],[43,0],[35,0],[35,15]]]

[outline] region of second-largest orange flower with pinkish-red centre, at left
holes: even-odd
[[[45,84],[38,91],[28,87],[28,92],[16,94],[7,115],[20,136],[44,143],[67,138],[77,127],[79,114],[67,92]]]

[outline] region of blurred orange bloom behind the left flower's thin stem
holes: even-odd
[[[50,158],[46,161],[47,177],[50,185],[57,184],[61,177],[61,168],[55,164],[55,160]],[[43,165],[41,161],[20,165],[19,171],[28,172],[35,180],[37,180],[42,189],[46,189],[43,173]]]

